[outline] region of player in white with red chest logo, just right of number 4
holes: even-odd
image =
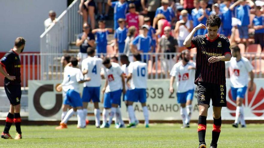
[[[108,92],[104,94],[104,108],[111,108],[110,118],[107,123],[101,126],[101,128],[109,128],[112,123],[114,115],[119,115],[119,126],[117,128],[124,127],[124,121],[122,120],[121,112],[119,106],[121,106],[121,94],[126,93],[125,89],[125,77],[123,71],[119,64],[110,62],[109,58],[103,60],[104,72],[106,77],[106,83],[102,92],[104,93],[106,89]],[[119,110],[119,111],[118,111]],[[116,114],[116,112],[119,114]]]

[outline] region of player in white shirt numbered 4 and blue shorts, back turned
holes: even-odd
[[[100,128],[100,86],[101,86],[101,68],[103,60],[95,57],[95,48],[88,47],[88,57],[82,61],[82,74],[84,78],[90,78],[91,81],[83,83],[82,105],[85,118],[87,115],[88,102],[93,100],[95,113],[95,126]]]

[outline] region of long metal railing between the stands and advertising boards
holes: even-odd
[[[21,75],[22,86],[26,87],[27,80],[62,80],[63,79],[63,65],[60,60],[64,54],[20,54],[21,59]],[[68,54],[76,57],[76,54]],[[114,55],[98,55],[112,57]],[[116,55],[120,63],[120,54]],[[170,70],[176,62],[179,62],[179,53],[144,53],[142,54],[142,61],[148,65],[148,78],[149,79],[164,79],[170,78]],[[192,60],[196,61],[196,54],[191,54]],[[254,66],[255,77],[263,77],[264,74],[264,53],[246,53],[244,54],[250,62],[256,61]],[[167,59],[169,57],[170,59]],[[258,60],[260,58],[260,60]],[[129,59],[133,59],[132,55]],[[263,60],[261,62],[261,60]],[[41,63],[46,61],[46,63]],[[41,67],[43,66],[43,67]],[[226,71],[226,77],[229,77],[228,71]]]

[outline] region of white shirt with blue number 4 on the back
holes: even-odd
[[[87,57],[82,61],[82,71],[88,70],[84,75],[85,78],[90,77],[91,81],[83,83],[84,87],[100,87],[101,86],[101,68],[103,60],[98,57]]]

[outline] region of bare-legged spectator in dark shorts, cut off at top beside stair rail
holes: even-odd
[[[83,22],[88,22],[88,15],[91,21],[91,29],[95,29],[95,2],[94,0],[81,0],[79,13],[82,15]]]

